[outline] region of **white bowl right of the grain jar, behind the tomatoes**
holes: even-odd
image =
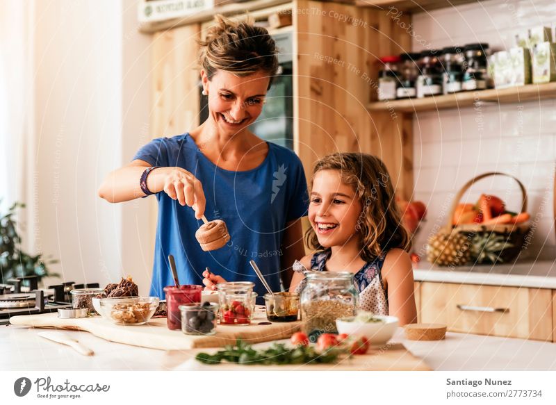
[[[354,321],[354,316],[341,317],[336,320],[338,333],[348,335],[365,336],[371,347],[382,347],[392,338],[399,320],[395,316],[375,315],[382,322],[359,322]]]

